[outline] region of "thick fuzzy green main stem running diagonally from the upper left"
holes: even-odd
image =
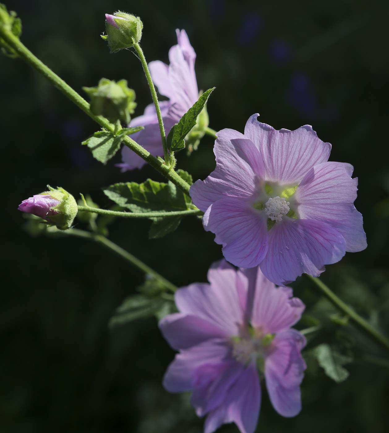
[[[13,35],[13,33],[4,26],[0,26],[0,37],[3,38],[6,43],[12,47],[20,58],[25,60],[29,65],[31,65],[34,69],[36,69],[40,74],[42,74],[45,78],[48,79],[52,84],[55,85],[61,92],[68,97],[72,102],[74,102],[77,107],[84,111],[88,116],[90,116],[93,120],[95,120],[100,126],[105,128],[107,131],[114,132],[115,125],[110,123],[103,116],[95,116],[90,111],[90,105],[87,101],[81,97],[74,89],[72,89],[68,84],[65,83],[57,74],[51,71],[39,58],[35,57],[31,51],[29,51],[26,46],[20,42],[19,38]],[[122,140],[123,144],[125,144],[129,149],[134,151],[137,155],[143,158],[146,162],[148,162],[152,167],[154,167],[157,171],[163,174],[166,178],[168,178],[171,182],[173,182],[181,191],[185,194],[189,195],[190,185],[187,184],[180,176],[174,171],[170,170],[168,165],[165,165],[164,162],[154,158],[153,155],[150,154],[146,149],[142,146],[138,145],[132,138],[129,136],[125,136]]]

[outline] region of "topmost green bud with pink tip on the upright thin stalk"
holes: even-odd
[[[131,48],[142,37],[143,24],[138,16],[124,12],[106,13],[106,36],[101,36],[108,42],[111,52],[122,48]]]

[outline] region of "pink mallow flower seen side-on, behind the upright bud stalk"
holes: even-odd
[[[169,98],[168,101],[159,103],[166,135],[199,99],[194,70],[196,53],[190,45],[185,30],[180,32],[177,29],[176,32],[178,45],[174,45],[169,50],[170,65],[168,66],[159,60],[151,61],[148,64],[158,92]],[[146,107],[143,116],[132,119],[129,126],[144,126],[145,129],[135,132],[131,138],[148,150],[151,155],[162,156],[164,154],[154,103]],[[122,171],[141,168],[146,163],[127,146],[122,148],[122,160],[123,163],[118,164]]]

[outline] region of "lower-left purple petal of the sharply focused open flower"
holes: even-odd
[[[203,216],[204,228],[222,243],[224,257],[244,268],[257,266],[267,253],[266,221],[264,212],[232,197],[216,201]]]

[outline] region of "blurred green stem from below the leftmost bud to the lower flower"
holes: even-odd
[[[173,283],[170,283],[170,281],[168,281],[162,275],[158,274],[158,272],[154,271],[154,269],[151,269],[148,265],[141,262],[141,260],[137,259],[134,255],[125,251],[125,249],[119,247],[119,245],[116,245],[116,243],[111,242],[105,236],[98,235],[92,232],[87,232],[85,230],[79,230],[79,229],[68,229],[66,230],[66,234],[69,234],[71,236],[78,236],[84,239],[93,240],[95,242],[99,242],[103,244],[111,251],[116,252],[116,254],[119,254],[121,257],[128,260],[130,263],[132,263],[132,265],[136,266],[141,271],[145,272],[146,274],[152,275],[158,281],[161,281],[161,283],[164,284],[164,286],[167,289],[171,290],[172,292],[175,292],[177,290],[177,287]]]

